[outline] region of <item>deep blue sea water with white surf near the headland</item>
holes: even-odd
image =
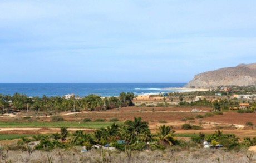
[[[22,93],[27,96],[63,96],[74,93],[80,97],[90,94],[119,96],[121,92],[144,93],[177,92],[174,87],[186,83],[0,83],[0,94]]]

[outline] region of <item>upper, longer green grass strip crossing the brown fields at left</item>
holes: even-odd
[[[115,122],[121,124],[122,122]],[[0,122],[0,127],[73,127],[99,129],[112,125],[113,122]]]

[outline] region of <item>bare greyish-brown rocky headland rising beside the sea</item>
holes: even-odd
[[[256,63],[220,68],[195,75],[186,87],[210,88],[217,86],[256,85]]]

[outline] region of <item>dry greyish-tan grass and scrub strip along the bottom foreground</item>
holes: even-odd
[[[4,150],[0,151],[0,162],[256,162],[256,156],[246,149],[227,152],[221,149],[182,150],[180,147],[171,147],[164,151],[133,151],[131,157],[126,152],[80,153],[80,150],[81,147],[56,149],[51,152],[33,151],[30,155],[28,151],[9,150],[7,153]]]

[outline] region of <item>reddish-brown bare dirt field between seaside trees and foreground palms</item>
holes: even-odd
[[[240,138],[255,137],[255,127],[245,126],[245,123],[250,121],[256,124],[255,113],[239,114],[237,112],[228,111],[223,115],[214,115],[212,117],[204,117],[201,119],[195,118],[196,115],[205,115],[211,108],[198,108],[200,112],[191,112],[194,107],[142,107],[139,112],[139,107],[126,107],[120,110],[113,109],[107,111],[97,112],[80,112],[80,113],[61,113],[65,121],[83,121],[84,118],[90,118],[92,121],[96,118],[102,118],[108,121],[110,118],[118,118],[119,121],[133,120],[134,117],[141,117],[142,120],[148,121],[152,132],[156,132],[160,125],[171,125],[174,127],[176,133],[213,133],[216,130],[221,130],[224,133],[234,133]],[[22,120],[22,117],[27,116],[26,113],[19,113],[15,116],[1,116],[0,121],[17,121]],[[36,118],[31,116],[31,118]],[[184,121],[184,119],[187,119]],[[160,123],[159,120],[165,121]],[[183,121],[182,121],[183,120]],[[37,121],[51,121],[51,118],[41,116]],[[202,130],[181,130],[181,125],[190,123],[191,125],[200,125]],[[69,129],[78,130],[78,129]],[[82,129],[86,132],[92,129]],[[0,133],[47,133],[58,132],[59,129],[55,128],[2,128]]]

